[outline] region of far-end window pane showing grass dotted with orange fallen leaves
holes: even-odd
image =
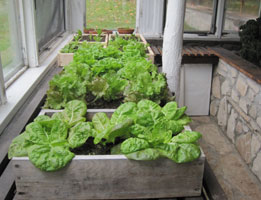
[[[87,28],[135,28],[136,0],[86,0]]]

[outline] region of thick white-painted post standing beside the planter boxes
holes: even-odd
[[[169,89],[179,99],[179,80],[182,60],[185,0],[168,1],[163,38],[163,67]]]

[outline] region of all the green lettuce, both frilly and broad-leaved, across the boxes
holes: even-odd
[[[12,141],[9,158],[28,156],[37,168],[56,171],[90,142],[134,160],[185,163],[200,156],[201,134],[184,130],[191,121],[186,107],[172,101],[165,75],[146,58],[146,45],[135,36],[116,36],[104,48],[76,37],[62,50],[74,53],[73,62],[50,81],[45,102],[64,110],[28,124]],[[111,118],[98,112],[87,121],[87,106],[116,101]]]

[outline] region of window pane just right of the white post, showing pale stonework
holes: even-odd
[[[213,0],[187,0],[184,31],[206,31],[211,29]]]

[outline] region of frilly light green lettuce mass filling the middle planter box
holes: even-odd
[[[75,39],[76,40],[76,39]],[[146,45],[135,36],[116,36],[107,48],[82,43],[74,60],[49,83],[46,108],[61,109],[71,100],[95,105],[97,100],[167,102],[166,77],[146,59]]]

